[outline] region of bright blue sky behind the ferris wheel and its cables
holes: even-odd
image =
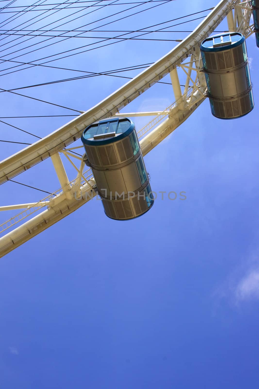
[[[30,2],[18,0],[15,4]],[[214,5],[210,0],[189,1],[183,7],[176,0],[100,30],[138,30]],[[105,7],[61,29],[72,30],[118,12],[119,7],[128,8]],[[66,16],[65,12],[59,11],[31,28]],[[206,14],[207,11],[200,15]],[[0,23],[10,15],[0,16]],[[25,18],[29,16],[7,27],[15,28]],[[170,30],[193,30],[198,23],[199,20]],[[222,30],[226,29],[225,23]],[[1,26],[2,23],[0,29],[7,28]],[[113,36],[111,32],[98,34]],[[171,32],[146,37],[183,39],[187,35]],[[14,38],[0,44],[11,39]],[[28,62],[93,42],[78,40],[69,39],[16,60]],[[34,38],[9,50],[7,46],[11,44],[0,47],[6,49],[0,56],[6,54],[1,58],[10,59],[26,53],[30,50],[7,55],[39,41]],[[154,62],[174,44],[128,40],[49,65],[102,72]],[[34,48],[41,46],[44,45]],[[179,196],[174,201],[160,198],[144,216],[125,223],[106,217],[101,202],[93,200],[1,259],[1,389],[258,388],[258,50],[254,37],[250,37],[247,51],[255,108],[249,115],[233,121],[216,119],[205,100],[144,157],[151,189],[177,194],[185,191],[186,200],[181,201]],[[2,63],[0,70],[10,66],[12,63]],[[1,88],[78,75],[67,70],[43,69],[34,67],[4,75]],[[133,77],[138,72],[122,75]],[[18,92],[87,110],[125,81],[100,76]],[[165,81],[169,82],[169,77]],[[1,117],[73,114],[10,93],[1,93],[0,98]],[[123,112],[160,110],[173,101],[172,87],[157,84]],[[69,119],[0,120],[43,137]],[[136,128],[147,121],[148,118],[136,119]],[[36,140],[0,124],[3,140]],[[19,149],[21,145],[0,142],[1,159]],[[66,161],[64,165],[73,179],[75,171]],[[15,180],[50,192],[59,188],[49,159]],[[1,205],[34,202],[44,197],[44,193],[13,182],[0,189]],[[13,214],[2,212],[1,220]]]

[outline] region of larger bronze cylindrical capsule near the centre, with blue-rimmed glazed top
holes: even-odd
[[[106,215],[127,220],[147,212],[154,199],[134,123],[125,117],[100,120],[81,140]]]

